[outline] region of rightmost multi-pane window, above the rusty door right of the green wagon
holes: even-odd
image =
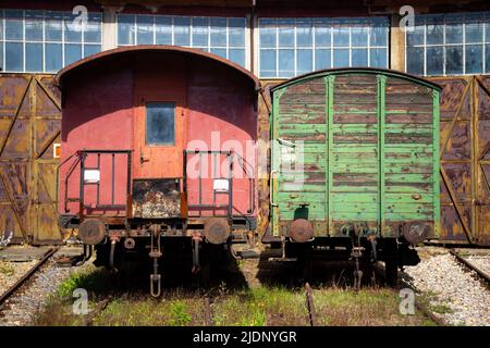
[[[406,71],[416,75],[490,73],[490,13],[416,15],[406,33]]]

